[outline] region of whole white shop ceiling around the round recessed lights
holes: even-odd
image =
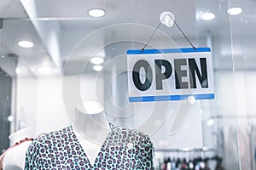
[[[229,6],[241,6],[244,12],[230,18],[226,14],[226,9]],[[103,8],[107,14],[99,19],[90,18],[88,15],[90,8]],[[45,63],[47,65],[54,63],[55,67],[61,69],[60,62],[67,60],[70,54],[75,56],[74,65],[76,65],[75,63],[79,63],[80,60],[90,59],[91,54],[108,45],[108,42],[125,39],[147,42],[154,27],[160,21],[160,13],[167,10],[175,14],[177,24],[195,46],[206,46],[206,35],[209,34],[212,37],[213,62],[216,69],[232,67],[231,20],[234,40],[237,39],[238,42],[240,40],[242,45],[247,47],[245,53],[245,48],[241,48],[239,43],[233,43],[237,61],[243,59],[244,55],[250,59],[250,62],[238,66],[241,66],[242,69],[247,66],[254,69],[251,63],[255,58],[253,55],[256,37],[254,31],[255,8],[256,1],[254,0],[73,0],[72,3],[69,0],[2,0],[0,15],[7,20],[4,20],[5,27],[0,30],[5,32],[0,36],[1,41],[6,44],[4,46],[6,53],[18,54],[32,72],[35,67],[45,65]],[[216,14],[216,18],[211,21],[200,20],[200,14],[204,12],[213,12]],[[30,17],[30,20],[27,20],[27,17]],[[133,30],[125,29],[124,23],[137,23],[148,28],[141,30],[140,26],[135,26]],[[123,27],[114,26],[117,24],[123,25]],[[111,27],[111,29],[108,31],[105,29],[99,33],[99,29],[105,26]],[[95,31],[96,36],[89,39],[90,43],[86,42],[86,38],[93,35]],[[163,37],[166,35],[177,42],[179,47],[189,47],[189,42],[184,40],[177,26],[168,28],[161,25],[152,42],[165,44],[166,41],[163,40]],[[16,42],[25,37],[34,42],[34,48],[17,47]],[[79,49],[73,50],[84,37],[84,45],[80,44]],[[164,47],[168,48],[169,46],[165,44]],[[171,44],[170,48],[172,48]],[[73,72],[75,72],[75,67]]]

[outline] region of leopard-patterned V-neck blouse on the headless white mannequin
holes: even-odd
[[[68,126],[35,139],[26,152],[25,169],[154,169],[148,135],[109,124],[111,132],[93,165]]]

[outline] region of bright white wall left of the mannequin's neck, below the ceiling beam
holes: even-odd
[[[34,135],[67,125],[61,104],[61,77],[17,78],[17,129],[32,127]]]

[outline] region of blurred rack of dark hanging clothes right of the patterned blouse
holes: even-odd
[[[166,148],[154,152],[156,170],[223,169],[219,168],[223,167],[222,158],[216,155],[217,149],[212,147]]]

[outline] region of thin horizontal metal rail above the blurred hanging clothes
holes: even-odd
[[[170,149],[156,149],[155,152],[215,152],[215,148],[170,148]]]

